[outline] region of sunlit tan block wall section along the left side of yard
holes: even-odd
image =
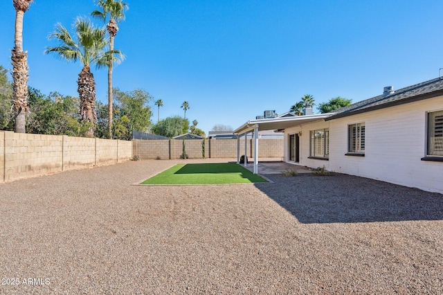
[[[131,158],[131,141],[0,131],[0,182]]]

